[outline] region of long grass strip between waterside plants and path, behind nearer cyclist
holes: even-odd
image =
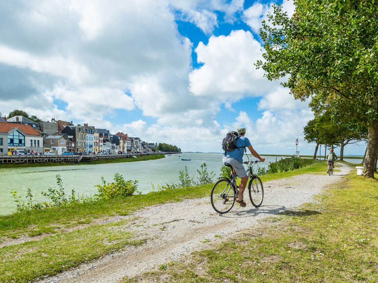
[[[298,170],[263,175],[261,179],[262,181],[269,181],[298,174],[325,172],[326,165],[325,162],[315,162],[310,166]],[[35,231],[48,231],[51,227],[54,228],[53,231],[58,232],[67,225],[72,226],[81,221],[89,223],[95,218],[109,217],[116,214],[127,215],[134,210],[155,204],[176,202],[184,198],[210,196],[212,188],[213,184],[207,184],[190,188],[150,192],[145,195],[74,204],[69,207],[54,207],[45,210],[17,212],[11,215],[0,216],[0,237],[17,238],[23,234],[36,233]],[[53,232],[50,230],[49,233]]]

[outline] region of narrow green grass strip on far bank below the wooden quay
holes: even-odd
[[[107,160],[94,160],[94,161],[81,161],[79,164],[71,162],[49,162],[49,163],[25,163],[25,164],[0,164],[0,168],[24,168],[24,167],[45,167],[45,166],[65,166],[65,165],[93,165],[93,164],[106,164],[106,163],[122,163],[122,162],[135,162],[145,160],[155,160],[164,158],[164,154],[153,154],[137,156],[137,158],[119,157]]]

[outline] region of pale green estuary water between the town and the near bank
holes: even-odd
[[[183,161],[181,158],[190,158],[191,161]],[[284,157],[265,156],[266,161],[259,166],[267,167],[269,162]],[[255,160],[254,157],[252,157]],[[246,157],[244,156],[244,160]],[[359,163],[361,159],[345,159],[346,161]],[[97,193],[94,185],[101,183],[101,176],[106,181],[113,180],[115,173],[123,175],[126,180],[138,180],[138,191],[148,193],[153,190],[152,184],[165,185],[178,183],[180,170],[188,167],[191,176],[197,177],[197,169],[206,162],[208,171],[213,171],[215,176],[220,174],[222,166],[221,153],[181,153],[166,155],[158,160],[109,163],[96,165],[65,165],[49,167],[29,168],[0,168],[0,215],[10,214],[16,210],[16,203],[10,192],[16,190],[22,201],[26,196],[27,188],[31,189],[33,202],[47,200],[41,192],[47,192],[48,187],[56,187],[55,176],[60,174],[66,193],[71,194],[74,189],[77,194],[93,196]],[[26,200],[25,200],[26,202]]]

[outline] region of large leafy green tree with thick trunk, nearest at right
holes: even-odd
[[[368,129],[364,175],[374,177],[378,145],[377,6],[374,0],[296,0],[288,18],[280,6],[260,29],[269,80],[287,78],[296,99],[311,98],[315,115]]]

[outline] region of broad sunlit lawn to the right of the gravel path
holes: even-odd
[[[319,201],[126,281],[378,282],[378,181],[353,170]]]

